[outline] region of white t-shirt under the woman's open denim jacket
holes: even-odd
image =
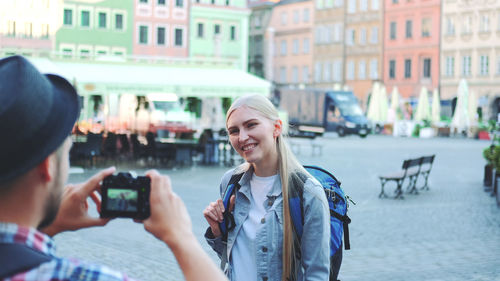
[[[263,226],[261,220],[266,216],[264,201],[267,194],[273,188],[274,181],[278,175],[270,177],[259,177],[255,174],[250,179],[250,210],[248,217],[243,222],[241,230],[236,236],[236,241],[231,253],[234,276],[237,281],[257,281],[257,263],[255,253],[255,237],[259,229]]]

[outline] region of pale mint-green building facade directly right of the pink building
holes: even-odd
[[[229,61],[248,67],[248,20],[245,0],[194,0],[191,3],[189,56]]]

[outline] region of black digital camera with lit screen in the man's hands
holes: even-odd
[[[147,219],[150,215],[151,179],[118,173],[103,179],[101,218]]]

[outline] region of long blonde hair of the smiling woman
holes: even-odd
[[[238,98],[233,102],[226,115],[227,121],[233,111],[241,106],[246,106],[253,109],[265,118],[272,122],[279,120],[278,110],[266,97],[260,95],[247,95]],[[283,194],[283,274],[281,279],[295,280],[296,271],[299,264],[295,263],[295,255],[300,251],[299,244],[296,243],[295,232],[293,231],[292,217],[290,215],[289,198],[291,194],[298,194],[298,189],[303,188],[304,180],[298,174],[308,175],[306,170],[299,163],[295,155],[292,153],[286,136],[282,133],[276,138],[276,150],[278,152],[278,172],[281,179],[281,192]],[[249,163],[236,168],[237,172],[246,171],[249,169]]]

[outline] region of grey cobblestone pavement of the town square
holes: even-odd
[[[349,209],[351,250],[344,252],[341,280],[500,280],[500,208],[482,185],[482,149],[489,142],[330,137],[314,141],[323,148],[319,156],[312,156],[309,140],[293,141],[304,164],[332,171],[357,203]],[[404,200],[378,198],[379,174],[399,169],[405,158],[428,154],[437,155],[429,191],[405,194]],[[174,190],[186,202],[194,232],[215,262],[203,239],[207,224],[202,210],[217,198],[225,170],[203,166],[161,170],[170,175]],[[72,174],[70,182],[95,172]],[[183,280],[168,248],[130,220],[63,233],[56,236],[56,243],[62,256],[105,264],[134,278]]]

